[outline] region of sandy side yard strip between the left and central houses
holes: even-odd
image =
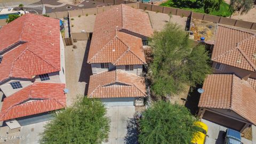
[[[77,95],[87,93],[87,83],[92,74],[91,66],[86,62],[89,44],[87,41],[77,41],[73,44],[77,46],[77,49],[73,49],[73,46],[65,47],[66,84],[69,90],[67,106],[71,105]]]

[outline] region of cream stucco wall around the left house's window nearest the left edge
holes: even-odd
[[[11,82],[19,81],[22,85],[22,88],[20,89],[12,89]],[[24,87],[32,84],[32,82],[29,81],[29,79],[20,79],[20,78],[10,78],[6,82],[0,85],[0,89],[3,91],[6,97],[10,96],[11,94],[18,92],[19,90],[23,89]]]

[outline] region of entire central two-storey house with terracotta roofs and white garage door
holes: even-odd
[[[107,106],[141,105],[146,93],[142,87],[146,87],[141,81],[133,85],[132,81],[125,83],[119,81],[112,73],[122,73],[123,79],[132,77],[142,79],[142,68],[146,65],[143,46],[147,45],[148,37],[153,34],[149,16],[147,13],[133,9],[121,4],[110,10],[97,14],[95,19],[92,41],[87,62],[91,64],[93,75],[89,82],[89,98],[101,98]],[[116,70],[115,72],[111,72]],[[127,74],[126,74],[127,73]],[[103,81],[98,77],[111,76],[111,83]],[[115,80],[116,79],[116,80]],[[113,89],[102,89],[95,93],[94,84],[98,87],[111,86]],[[137,87],[127,92],[117,92],[117,87]],[[128,90],[128,88],[125,90]],[[140,90],[140,93],[137,91]],[[105,93],[116,93],[106,96]],[[129,102],[127,102],[129,101]],[[136,104],[136,103],[137,104]],[[142,102],[143,103],[143,102]]]

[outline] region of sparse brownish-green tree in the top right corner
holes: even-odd
[[[252,9],[253,0],[230,0],[229,11],[231,15],[238,11],[241,15]],[[230,17],[231,17],[230,15]]]

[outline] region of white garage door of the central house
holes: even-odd
[[[106,98],[101,99],[105,106],[133,106],[134,98]]]

